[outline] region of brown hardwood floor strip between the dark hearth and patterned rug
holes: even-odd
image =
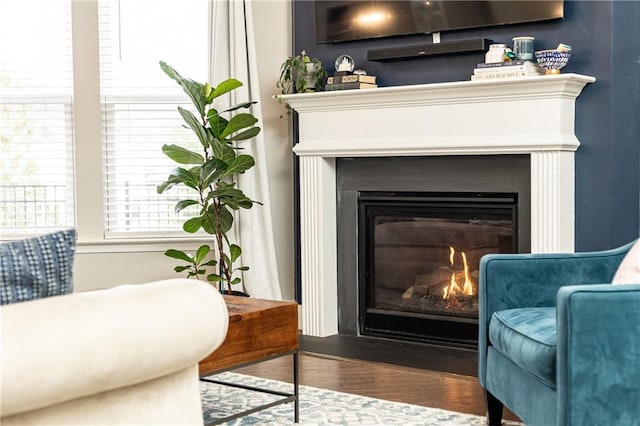
[[[234,370],[292,381],[291,357]],[[300,384],[339,392],[483,416],[484,397],[474,376],[301,352]],[[518,420],[505,409],[505,419]]]

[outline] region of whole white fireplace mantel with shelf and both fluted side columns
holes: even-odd
[[[336,157],[529,154],[531,251],[574,250],[578,74],[279,96],[299,114],[302,331],[338,332]]]

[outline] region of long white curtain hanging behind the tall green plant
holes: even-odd
[[[258,101],[258,67],[251,3],[247,0],[214,0],[211,3],[212,85],[235,78],[244,83],[228,101],[236,104]],[[253,105],[252,114],[262,127],[262,107]],[[252,141],[242,141],[243,153],[252,155],[256,165],[238,181],[240,189],[251,199],[263,203],[240,210],[235,217],[235,238],[242,247],[241,262],[250,267],[243,274],[245,291],[253,297],[282,300],[276,265],[275,241],[271,221],[271,197],[267,178],[267,157],[262,132]]]

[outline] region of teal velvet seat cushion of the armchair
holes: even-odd
[[[555,388],[555,307],[496,312],[489,324],[489,340],[497,351],[518,367]]]

